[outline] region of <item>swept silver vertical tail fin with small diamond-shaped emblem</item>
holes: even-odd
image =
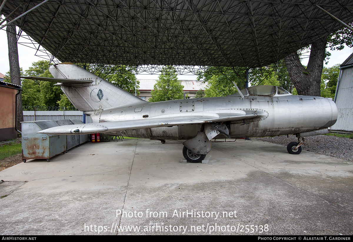
[[[61,90],[80,111],[94,111],[126,104],[145,102],[139,97],[122,90],[95,74],[72,63],[64,62],[50,66],[50,73],[58,79],[74,79],[90,81],[78,84],[70,81],[61,83]]]

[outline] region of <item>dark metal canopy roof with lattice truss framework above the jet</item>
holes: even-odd
[[[315,4],[353,21],[349,0],[50,0],[15,23],[60,61],[259,67],[342,28]]]

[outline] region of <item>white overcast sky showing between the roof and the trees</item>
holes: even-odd
[[[7,36],[5,30],[0,30],[0,73],[6,74],[9,71],[10,66],[8,63],[8,48],[7,48]],[[349,47],[344,48],[343,50],[336,50],[331,52],[331,58],[329,59],[329,63],[325,65],[326,67],[331,67],[336,64],[341,64],[345,61],[348,56],[352,53],[352,49]],[[18,56],[19,56],[19,64],[20,67],[25,71],[30,66],[32,66],[33,62],[43,60],[43,58],[35,56],[36,50],[30,47],[23,46],[18,44]],[[303,60],[303,63],[307,64],[308,58]],[[158,79],[158,75],[150,75],[150,74],[138,74],[138,79]],[[178,75],[179,80],[196,80],[195,75]]]

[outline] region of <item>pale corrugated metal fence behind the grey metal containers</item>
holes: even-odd
[[[79,119],[82,121],[82,111],[23,111],[23,121]],[[92,123],[86,116],[86,123]]]

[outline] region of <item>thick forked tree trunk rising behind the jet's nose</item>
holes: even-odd
[[[327,41],[313,42],[310,57],[305,68],[297,52],[288,55],[284,60],[298,95],[320,96],[322,68],[324,66]]]

